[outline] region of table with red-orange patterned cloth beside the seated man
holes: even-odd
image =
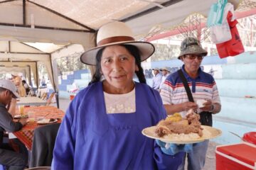
[[[65,113],[54,107],[54,106],[38,106],[38,107],[26,107],[24,108],[25,114],[28,112],[35,113],[35,117],[42,117],[46,116],[45,118],[57,118],[58,123],[61,122],[63,116]],[[16,111],[18,113],[18,111]],[[23,126],[23,128],[19,131],[14,132],[14,135],[20,140],[26,147],[28,147],[29,150],[32,148],[32,142],[33,142],[33,132],[36,128],[39,126],[36,122],[29,122],[27,125]]]

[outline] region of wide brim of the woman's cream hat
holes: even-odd
[[[96,55],[97,52],[102,49],[103,47],[108,47],[111,45],[134,45],[139,49],[141,61],[146,60],[151,55],[153,55],[155,51],[155,47],[150,42],[142,42],[142,41],[122,41],[122,42],[113,42],[107,45],[101,45],[98,47],[93,47],[90,50],[87,50],[82,53],[80,60],[82,63],[88,65],[96,65]]]

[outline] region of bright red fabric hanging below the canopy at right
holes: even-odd
[[[238,28],[236,27],[238,21],[231,21],[232,16],[233,14],[229,11],[227,20],[228,25],[230,26],[230,33],[232,35],[232,39],[220,44],[216,44],[218,55],[220,56],[220,58],[235,56],[241,54],[242,52],[245,52],[242,41],[240,39],[240,35],[238,33]]]

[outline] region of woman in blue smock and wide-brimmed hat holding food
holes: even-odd
[[[81,56],[96,72],[60,125],[52,169],[177,169],[183,152],[168,156],[142,135],[166,118],[159,92],[146,85],[141,66],[153,52],[154,45],[134,41],[124,23],[100,28],[97,47]],[[134,73],[140,83],[133,81]]]

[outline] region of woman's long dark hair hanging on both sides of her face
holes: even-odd
[[[134,45],[120,45],[120,46],[125,47],[128,50],[128,52],[135,58],[135,63],[137,64],[137,67],[139,68],[139,71],[135,71],[135,74],[137,75],[140,83],[146,84],[146,78],[145,78],[145,75],[144,75],[144,72],[142,69],[141,58],[139,55],[139,49]],[[100,69],[101,69],[100,61],[102,58],[103,50],[105,50],[105,47],[97,52],[96,71],[95,71],[95,74],[93,74],[92,81],[90,81],[89,85],[94,84],[97,81],[100,81],[100,79],[102,77],[102,74],[100,73]]]

